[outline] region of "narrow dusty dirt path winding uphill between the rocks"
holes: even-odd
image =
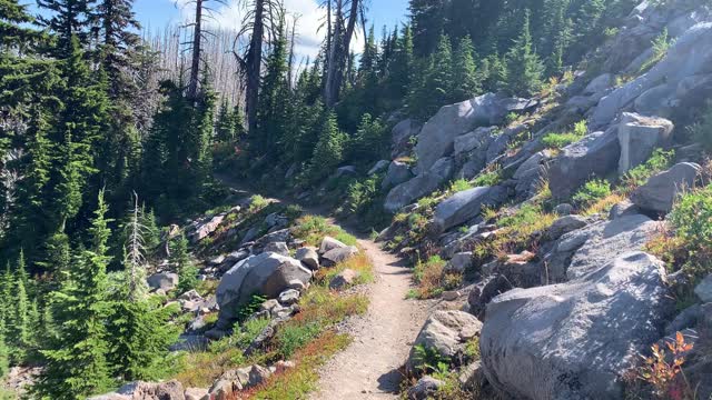
[[[246,189],[227,177],[217,178],[235,189]],[[328,217],[324,209],[305,209],[309,213]],[[338,224],[332,218],[329,222]],[[396,399],[402,381],[399,368],[427,317],[426,306],[406,300],[412,271],[403,260],[383,251],[350,227],[343,228],[359,238],[360,247],[373,262],[376,281],[368,290],[370,303],[367,313],[349,321],[348,333],[354,341],[322,369],[319,390],[310,399]]]

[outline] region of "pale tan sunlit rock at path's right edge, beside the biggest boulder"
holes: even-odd
[[[416,371],[424,360],[419,360],[416,347],[422,347],[451,360],[455,360],[465,348],[466,342],[478,336],[482,322],[463,311],[435,311],[425,321],[406,362],[408,372]]]

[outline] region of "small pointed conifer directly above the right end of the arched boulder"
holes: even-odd
[[[526,11],[520,38],[507,53],[507,90],[512,94],[531,96],[542,87],[544,66],[532,49],[530,12]]]

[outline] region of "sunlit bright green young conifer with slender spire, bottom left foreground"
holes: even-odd
[[[106,340],[108,313],[107,273],[109,230],[103,193],[91,223],[90,248],[80,250],[66,279],[50,294],[58,340],[42,350],[47,364],[33,387],[49,399],[83,399],[111,386]]]

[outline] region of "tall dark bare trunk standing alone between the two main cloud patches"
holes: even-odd
[[[259,102],[259,74],[263,61],[263,40],[265,36],[265,0],[255,0],[255,21],[253,36],[245,61],[247,87],[245,90],[245,107],[247,109],[247,126],[249,133],[257,127],[257,103]]]

